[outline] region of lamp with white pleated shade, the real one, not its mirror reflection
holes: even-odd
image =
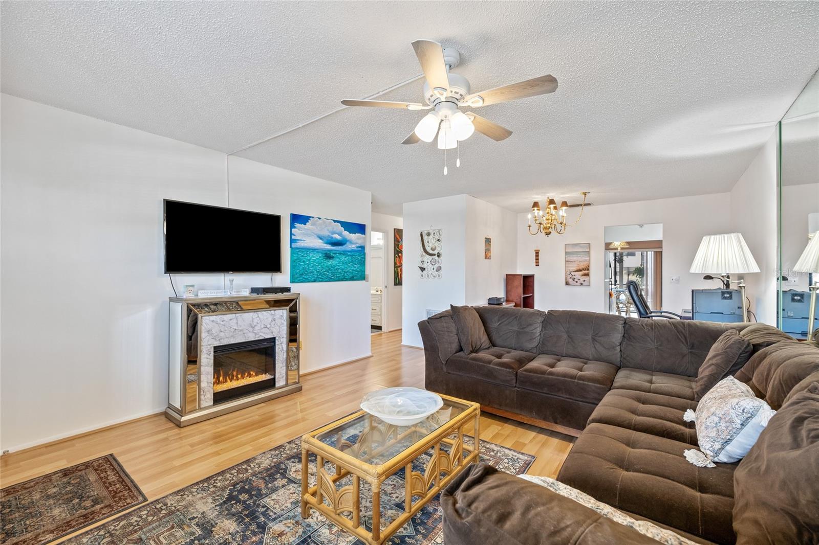
[[[726,286],[731,285],[731,274],[759,272],[759,266],[744,238],[738,232],[724,235],[703,236],[699,249],[691,263],[690,272],[718,274]],[[742,295],[742,321],[748,322],[748,307],[745,306],[745,281],[738,286]]]

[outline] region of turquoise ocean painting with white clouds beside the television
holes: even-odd
[[[290,214],[290,282],[364,280],[364,223]]]

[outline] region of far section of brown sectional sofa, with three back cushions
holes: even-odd
[[[419,323],[427,389],[572,435],[609,390],[694,399],[711,345],[727,329],[748,326],[576,310],[475,310],[493,346],[477,354],[464,354],[450,311]]]

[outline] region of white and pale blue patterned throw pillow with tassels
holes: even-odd
[[[695,421],[697,442],[702,450],[691,448],[683,454],[686,460],[700,467],[741,460],[775,413],[753,395],[748,385],[726,376],[704,395],[697,412],[688,409],[682,417],[686,422]]]

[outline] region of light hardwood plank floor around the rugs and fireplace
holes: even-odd
[[[390,386],[423,388],[423,350],[401,332],[372,336],[373,357],[302,376],[304,390],[179,428],[164,414],[129,421],[0,457],[0,487],[114,453],[149,500],[300,437],[358,409],[361,396]],[[484,414],[481,439],[536,455],[529,473],[557,475],[573,438]]]

